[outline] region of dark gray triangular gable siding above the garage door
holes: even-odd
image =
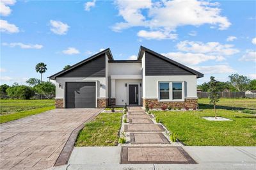
[[[102,54],[57,77],[106,77],[106,54]]]

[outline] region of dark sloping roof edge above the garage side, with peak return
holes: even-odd
[[[83,65],[84,63],[86,63],[88,61],[91,61],[92,59],[95,59],[95,58],[99,57],[101,54],[104,54],[104,53],[107,54],[109,60],[113,60],[113,56],[111,54],[111,50],[108,48],[106,50],[102,50],[102,51],[98,52],[97,54],[94,54],[90,58],[86,58],[83,61],[80,61],[79,63],[76,63],[75,65],[70,66],[70,68],[68,68],[67,70],[62,70],[62,71],[60,71],[58,73],[55,73],[54,75],[51,75],[49,78],[52,79],[52,80],[55,80],[57,76],[59,76],[59,75],[61,75],[63,73],[67,73],[70,70],[73,70],[74,68],[76,68],[77,66]]]

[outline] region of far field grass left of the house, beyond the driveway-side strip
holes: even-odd
[[[13,114],[44,107],[54,106],[54,100],[0,100],[0,114]]]

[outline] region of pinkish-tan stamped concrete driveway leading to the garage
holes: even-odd
[[[55,109],[0,125],[0,169],[52,167],[74,129],[101,109]]]

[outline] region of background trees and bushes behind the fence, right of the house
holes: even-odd
[[[237,73],[229,75],[228,78],[230,81],[215,82],[216,91],[246,91],[248,89],[256,90],[256,79],[250,80],[248,77],[239,75]],[[211,81],[204,82],[203,84],[198,85],[197,88],[201,89],[202,91],[210,91],[210,84]]]

